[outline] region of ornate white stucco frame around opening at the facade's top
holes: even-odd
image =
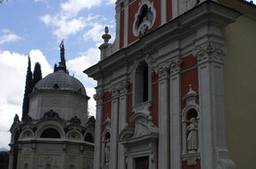
[[[154,26],[156,18],[156,11],[154,9],[154,2],[148,0],[142,0],[139,3],[139,10],[135,13],[134,22],[132,26],[132,33],[134,36],[139,36],[139,33],[144,33],[147,29],[151,29]]]

